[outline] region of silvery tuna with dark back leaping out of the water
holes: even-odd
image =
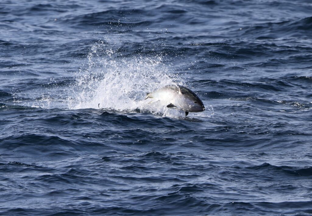
[[[168,108],[183,110],[185,116],[189,112],[202,112],[205,106],[199,97],[190,89],[180,85],[168,85],[147,94],[145,99],[153,98],[149,103],[160,101],[167,104]]]

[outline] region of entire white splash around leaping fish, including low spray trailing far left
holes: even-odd
[[[184,81],[171,72],[168,60],[159,55],[123,56],[117,43],[97,42],[87,56],[87,64],[66,82],[50,78],[41,91],[23,92],[25,96],[14,96],[14,104],[37,108],[87,109],[94,108],[118,112],[149,112],[168,117],[185,117],[181,110],[168,109],[161,103],[149,104],[146,94],[166,85],[185,85]],[[74,80],[72,84],[72,80]],[[31,96],[30,96],[31,95]],[[100,106],[98,106],[100,104]],[[197,117],[207,117],[213,108]]]

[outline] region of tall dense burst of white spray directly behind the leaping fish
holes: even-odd
[[[183,85],[163,64],[163,56],[124,57],[104,42],[98,42],[88,55],[87,69],[77,74],[68,107],[98,109],[100,104],[104,110],[165,113],[163,107],[150,105],[144,98],[147,93],[173,83]]]

